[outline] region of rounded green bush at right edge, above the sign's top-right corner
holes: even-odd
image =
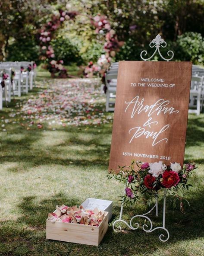
[[[175,45],[175,58],[179,61],[192,61],[204,64],[204,38],[196,32],[179,35]]]

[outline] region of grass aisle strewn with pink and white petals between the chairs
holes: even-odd
[[[28,130],[49,129],[55,125],[100,125],[112,122],[111,114],[105,113],[105,96],[100,90],[98,79],[56,79],[38,82],[41,88],[37,95],[21,100],[9,114]],[[23,120],[23,121],[22,121]],[[4,120],[2,130],[6,131],[9,119]]]

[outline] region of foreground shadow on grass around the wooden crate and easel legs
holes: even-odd
[[[36,200],[37,199],[37,200]],[[112,224],[108,228],[107,234],[102,240],[100,246],[86,246],[75,243],[66,243],[53,240],[46,240],[45,226],[47,214],[55,209],[55,205],[65,203],[66,205],[78,205],[81,201],[79,197],[69,198],[63,193],[55,194],[48,198],[43,198],[40,202],[35,196],[28,196],[21,199],[18,204],[20,217],[14,221],[1,222],[0,242],[4,243],[4,251],[0,247],[1,255],[93,255],[101,256],[125,256],[125,255],[151,255],[154,251],[165,250],[174,246],[175,243],[185,240],[193,240],[204,236],[203,220],[204,213],[201,211],[201,205],[204,204],[204,190],[194,194],[191,198],[191,208],[185,215],[179,210],[167,208],[166,228],[169,230],[170,238],[167,243],[159,240],[160,234],[165,234],[162,230],[146,234],[141,228],[132,231],[125,228],[122,233],[115,233]],[[160,202],[161,203],[161,202]],[[129,216],[144,212],[145,206],[138,204],[137,207],[125,207],[124,218],[129,220]],[[149,216],[153,220],[154,227],[162,225],[162,206],[160,205],[159,217],[154,213]],[[145,209],[147,210],[147,208]],[[115,220],[119,215],[119,205],[113,208]],[[148,224],[138,220],[142,224]],[[26,251],[26,254],[22,253]],[[2,250],[2,251],[1,251]],[[17,253],[16,253],[17,252]],[[18,253],[19,252],[19,253]],[[67,253],[70,254],[67,254]],[[172,255],[172,254],[171,254]]]

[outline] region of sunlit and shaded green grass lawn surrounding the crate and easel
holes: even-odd
[[[45,74],[45,76],[47,76]],[[3,256],[202,256],[204,255],[204,115],[189,115],[185,162],[195,161],[198,176],[187,196],[185,214],[168,205],[166,228],[170,238],[159,240],[160,232],[141,229],[114,233],[119,217],[123,187],[107,180],[112,122],[100,125],[29,126],[27,115],[18,115],[24,101],[32,99],[52,83],[38,78],[39,86],[16,98],[0,113],[0,255]],[[40,82],[39,82],[40,81]],[[59,82],[60,83],[60,80]],[[104,105],[100,96],[99,109]],[[97,103],[96,103],[97,104]],[[16,114],[17,115],[13,115]],[[104,118],[113,114],[105,113]],[[9,120],[6,121],[5,120]],[[38,121],[35,121],[38,122]],[[182,122],[182,121],[181,121]],[[113,220],[98,247],[46,239],[46,218],[56,205],[80,205],[86,198],[113,201]],[[162,202],[160,201],[160,204]],[[124,219],[148,207],[124,208]],[[162,224],[150,214],[154,226]]]

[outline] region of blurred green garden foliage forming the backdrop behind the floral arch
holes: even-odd
[[[57,8],[65,8],[66,4],[67,0],[36,0],[34,5],[28,0],[1,1],[0,60],[13,60],[14,57],[15,60],[22,57],[30,59],[33,54],[36,56],[37,48],[34,46],[34,53],[31,53],[32,44],[28,50],[22,50],[26,41],[30,41],[30,37],[37,38],[42,24],[50,19]],[[52,42],[56,59],[63,59],[65,64],[96,62],[103,53],[104,35],[96,35],[90,23],[90,17],[98,13],[107,16],[119,41],[124,42],[116,54],[116,61],[140,60],[141,50],[149,49],[149,42],[161,32],[163,38],[171,42],[168,46],[175,52],[174,59],[191,60],[195,64],[204,63],[204,1],[69,0],[66,8],[70,11],[76,10],[78,15],[74,22],[64,23],[63,30],[61,28],[57,31],[58,37]],[[13,45],[16,51],[8,46],[12,38],[16,42]],[[20,54],[18,58],[17,51]],[[166,54],[166,48],[161,51]]]

